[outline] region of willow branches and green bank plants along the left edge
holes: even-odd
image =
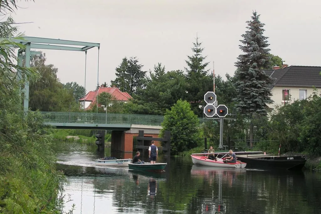
[[[14,12],[15,3],[0,1],[3,18]],[[8,46],[24,46],[13,42],[22,39],[13,24],[11,17],[0,22],[0,213],[62,213],[63,196],[59,199],[58,193],[64,177],[56,171],[51,138],[42,116],[22,107],[24,80],[40,75],[34,68],[16,65],[17,57]],[[22,80],[17,81],[17,69]]]

